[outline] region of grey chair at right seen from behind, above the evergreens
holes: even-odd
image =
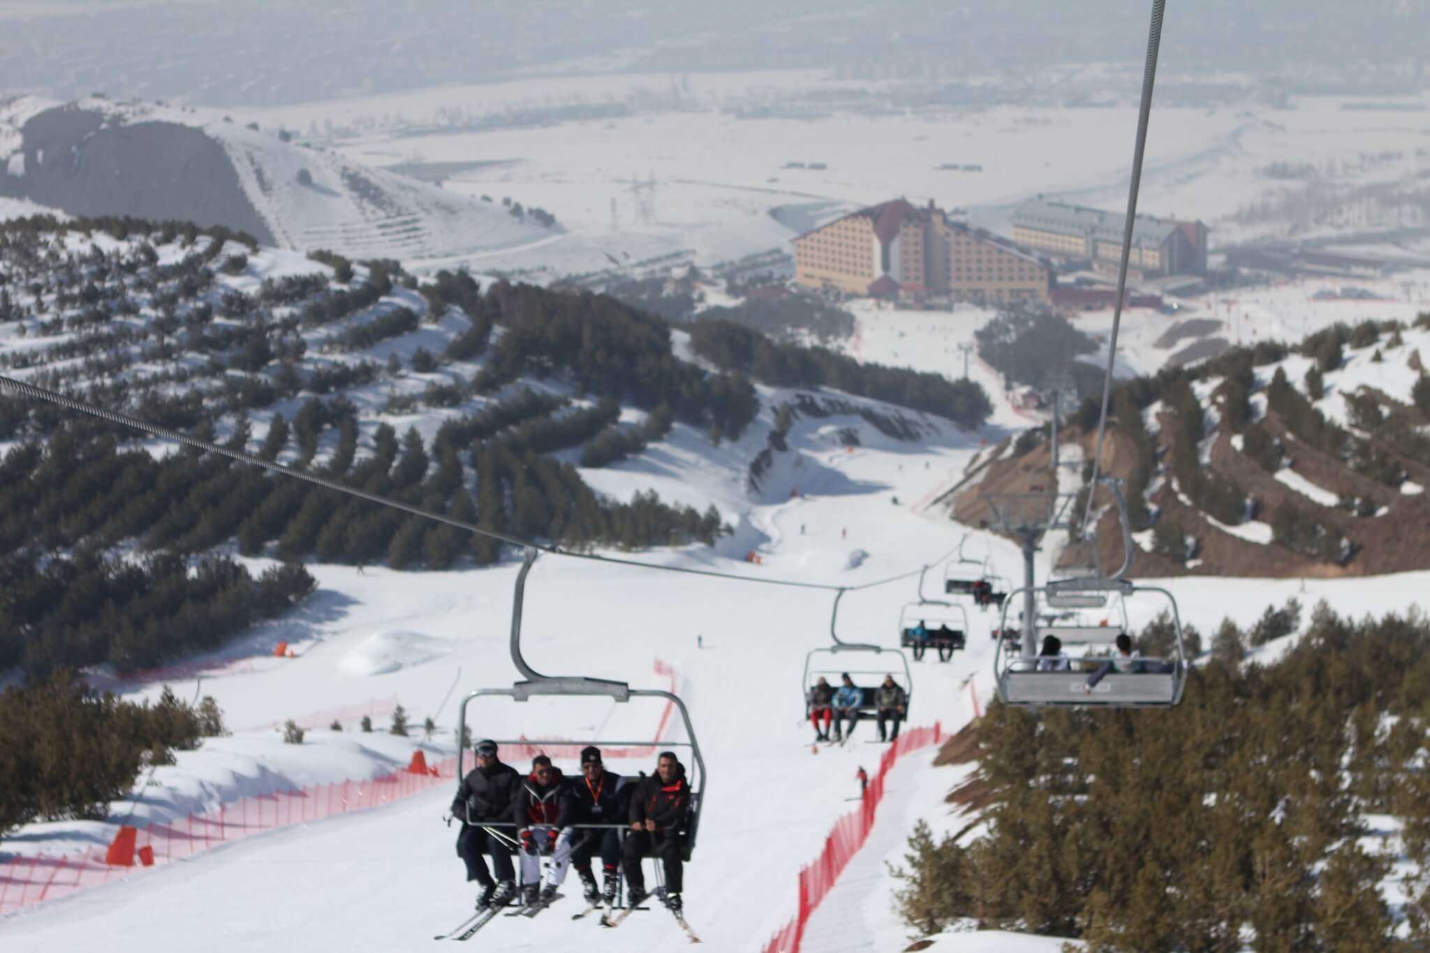
[[[1081,587],[1100,587],[1104,593],[1115,592],[1123,599],[1141,599],[1147,596],[1165,599],[1171,607],[1171,619],[1175,630],[1175,644],[1168,659],[1134,657],[1128,664],[1131,672],[1111,672],[1090,689],[1088,680],[1107,660],[1107,656],[1081,656],[1065,659],[1067,667],[1040,672],[1040,656],[1030,654],[1024,649],[1010,647],[1005,642],[998,643],[994,657],[994,672],[998,679],[998,699],[1004,704],[1015,707],[1104,707],[1104,709],[1148,709],[1171,707],[1181,702],[1187,687],[1187,656],[1183,642],[1181,616],[1177,612],[1175,597],[1165,589],[1155,586],[1137,586],[1131,580],[1077,580]],[[1055,584],[1054,584],[1055,586]],[[1021,594],[1022,590],[1014,593]],[[1064,594],[1075,592],[1064,587]],[[1047,587],[1038,587],[1037,594],[1045,599]],[[1010,597],[1008,602],[1014,602]],[[1007,629],[1008,602],[1004,603],[1002,627]],[[1125,623],[1125,619],[1124,619]],[[1040,642],[1042,634],[1058,634],[1067,644],[1095,644],[1111,642],[1124,626],[1107,627],[1038,627],[1034,622],[1032,644]],[[1078,632],[1072,632],[1077,629]],[[1061,633],[1061,634],[1060,634]],[[1027,644],[1027,643],[1024,643]],[[1064,662],[1060,659],[1058,662]]]

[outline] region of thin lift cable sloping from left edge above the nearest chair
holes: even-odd
[[[392,500],[385,496],[378,496],[376,493],[368,493],[366,490],[359,490],[358,487],[346,486],[337,483],[336,480],[329,480],[327,477],[317,476],[315,473],[305,473],[303,470],[295,470],[293,467],[286,467],[282,463],[275,463],[273,460],[265,460],[263,457],[256,457],[252,453],[243,450],[235,450],[232,447],[225,447],[200,437],[190,436],[180,430],[172,430],[169,427],[162,427],[156,423],[149,423],[147,420],[140,420],[126,413],[117,410],[104,410],[103,407],[94,407],[84,403],[83,400],[76,400],[66,394],[56,393],[53,390],[46,390],[43,387],[36,387],[34,384],[27,384],[23,380],[16,380],[13,377],[0,376],[0,389],[9,389],[16,391],[23,397],[30,397],[33,400],[46,400],[53,404],[59,404],[67,410],[74,410],[77,413],[89,414],[92,417],[99,417],[109,423],[116,423],[123,427],[130,427],[133,430],[140,430],[143,433],[152,434],[154,437],[162,437],[163,440],[170,440],[173,443],[182,443],[196,450],[204,450],[207,453],[217,453],[219,456],[229,457],[230,460],[237,460],[239,463],[249,463],[256,467],[262,467],[270,473],[279,473],[282,476],[295,477],[297,480],[305,480],[315,486],[326,487],[329,490],[336,490],[339,493],[346,493],[347,496],[355,496],[360,500],[368,500],[369,503],[376,503],[379,506],[388,506],[395,510],[402,510],[413,516],[420,516],[436,523],[446,523],[448,526],[455,526],[459,530],[466,530],[478,536],[485,536],[488,539],[495,539],[498,542],[506,543],[509,546],[519,546],[522,549],[535,549],[549,556],[565,556],[568,559],[585,559],[595,563],[612,563],[616,566],[633,566],[636,569],[654,569],[664,573],[685,573],[686,576],[708,576],[711,579],[728,579],[738,583],[758,583],[762,586],[785,586],[789,589],[817,589],[822,592],[858,592],[861,589],[874,589],[875,586],[884,586],[887,583],[894,583],[901,579],[908,579],[917,576],[924,569],[911,570],[899,576],[891,576],[888,579],[879,579],[872,583],[861,583],[858,586],[832,586],[829,583],[805,583],[792,579],[761,579],[758,576],[736,576],[735,573],[721,573],[711,569],[689,569],[684,566],[659,566],[656,563],[642,563],[633,559],[619,559],[615,556],[599,556],[595,553],[573,553],[571,550],[561,549],[559,546],[548,546],[536,543],[533,540],[522,539],[519,536],[512,536],[509,533],[500,533],[496,530],[483,529],[475,523],[468,523],[465,520],[452,519],[442,513],[433,513],[432,510],[425,510],[420,506],[412,506],[409,503],[402,503],[399,500]],[[942,562],[947,556],[940,557],[937,562]]]

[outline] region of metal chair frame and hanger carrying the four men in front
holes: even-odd
[[[533,547],[526,549],[525,562],[522,563],[521,572],[516,574],[515,596],[512,600],[512,637],[511,637],[511,652],[512,663],[516,670],[526,676],[523,682],[515,683],[512,687],[496,687],[496,689],[476,689],[468,693],[462,699],[462,704],[458,707],[458,722],[456,722],[456,737],[458,743],[458,762],[456,762],[456,783],[458,790],[460,790],[462,779],[466,777],[469,764],[466,763],[466,737],[486,739],[490,737],[499,747],[519,747],[528,752],[546,752],[551,753],[553,759],[562,757],[565,752],[578,752],[586,744],[595,744],[596,747],[608,752],[611,749],[649,749],[651,752],[659,752],[665,749],[674,749],[676,752],[689,752],[689,764],[686,766],[686,783],[691,786],[691,810],[689,822],[685,829],[684,836],[684,857],[691,859],[691,853],[695,849],[695,834],[699,827],[701,809],[705,800],[706,787],[706,770],[705,757],[701,754],[699,740],[695,736],[695,726],[691,722],[691,713],[685,707],[685,702],[681,700],[674,692],[665,692],[662,689],[632,689],[625,682],[613,682],[608,679],[591,679],[585,676],[546,676],[541,674],[529,664],[526,659],[522,657],[522,609],[526,596],[526,576],[531,573],[532,564],[536,562],[538,550]],[[669,702],[674,710],[679,714],[681,724],[685,733],[685,740],[666,740],[659,737],[648,739],[621,739],[621,737],[562,737],[562,739],[529,739],[529,737],[495,737],[496,733],[485,733],[480,727],[480,722],[472,722],[470,729],[468,729],[468,706],[473,702],[482,699],[508,699],[511,702],[528,702],[536,697],[608,697],[618,704],[628,704],[636,699],[654,699],[656,702]],[[658,716],[652,722],[658,720]],[[470,734],[469,734],[470,732]],[[575,757],[575,756],[572,756]],[[654,757],[654,754],[652,754]],[[465,819],[463,819],[465,820]],[[480,822],[483,827],[512,827],[515,823],[486,823]],[[618,827],[621,830],[628,829],[628,824],[572,824],[573,827],[593,827],[606,829]]]

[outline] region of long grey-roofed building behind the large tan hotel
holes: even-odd
[[[1018,206],[1012,240],[1070,259],[1087,259],[1098,269],[1115,269],[1123,254],[1127,216],[1072,206],[1042,197]],[[1205,274],[1207,226],[1137,216],[1128,269],[1140,276]]]

